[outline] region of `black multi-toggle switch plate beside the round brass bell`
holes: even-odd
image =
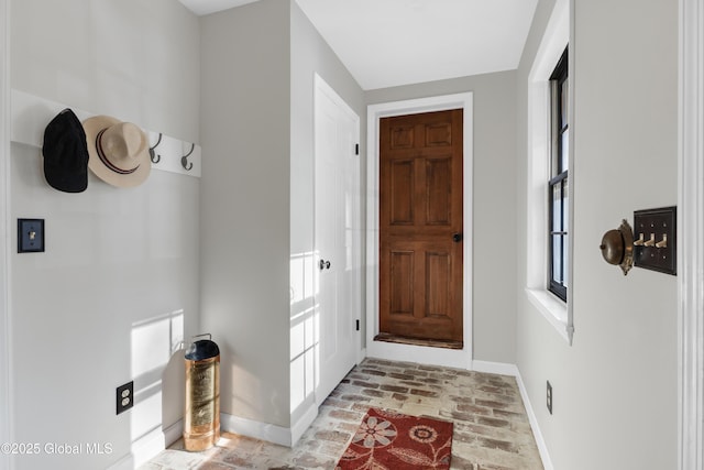
[[[676,207],[634,212],[634,264],[675,275]]]

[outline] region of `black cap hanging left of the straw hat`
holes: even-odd
[[[65,193],[88,187],[88,147],[84,127],[70,109],[59,112],[44,130],[44,177]]]

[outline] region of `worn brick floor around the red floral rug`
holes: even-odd
[[[332,470],[370,406],[452,420],[452,469],[543,468],[514,378],[365,359],[294,448],[223,433],[204,452],[187,452],[179,440],[140,470]]]

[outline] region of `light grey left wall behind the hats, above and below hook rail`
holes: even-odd
[[[11,14],[13,88],[198,142],[198,21],[178,2],[21,0]],[[200,181],[153,171],[117,189],[90,175],[65,194],[45,183],[40,149],[12,144],[10,163],[10,220],[46,223],[46,252],[10,259],[12,438],[43,449],[15,468],[129,461],[133,441],[183,415],[174,348],[199,332]],[[135,407],[116,416],[130,380]],[[52,442],[112,451],[48,455]]]

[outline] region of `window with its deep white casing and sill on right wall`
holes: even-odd
[[[573,231],[574,197],[572,194],[575,175],[572,171],[569,186],[566,172],[562,178],[558,178],[558,175],[569,170],[568,166],[573,165],[573,152],[570,149],[572,145],[569,145],[568,141],[569,139],[574,140],[574,122],[569,122],[569,128],[561,125],[561,130],[564,131],[562,132],[563,140],[557,139],[559,134],[552,129],[557,129],[558,122],[562,123],[562,120],[566,124],[566,121],[570,120],[569,116],[573,114],[570,100],[574,95],[574,80],[570,79],[570,83],[566,83],[569,72],[568,53],[565,53],[572,34],[570,32],[570,3],[571,0],[554,1],[550,20],[528,74],[525,252],[526,298],[535,307],[535,309],[527,308],[527,311],[542,315],[568,345],[572,345],[574,335],[574,309],[568,295],[568,288],[573,286],[571,280],[574,278],[572,276],[574,263],[570,254],[573,251],[573,243],[569,240],[571,236],[568,236],[566,232]],[[561,59],[562,56],[564,59]],[[574,55],[570,57],[572,63],[574,63],[573,57]],[[559,80],[557,70],[561,69],[558,66],[561,62],[564,78]],[[559,106],[557,91],[560,91],[562,100]],[[568,110],[569,112],[566,112]],[[558,119],[558,112],[562,112],[560,119]],[[558,149],[553,149],[558,144],[562,145],[561,157],[557,153]],[[553,170],[553,166],[557,165],[562,165],[562,167]],[[550,184],[551,182],[552,184]],[[557,204],[553,204],[557,183],[559,183],[557,187],[560,192],[557,194],[559,196]],[[557,211],[557,220],[553,220],[552,217],[554,211]],[[553,250],[553,245],[557,245],[557,250]],[[553,251],[558,254],[554,262]],[[552,282],[553,277],[557,281],[554,283]],[[570,286],[568,286],[569,283]],[[560,294],[553,293],[551,288],[553,285],[556,286],[554,291],[560,292],[562,297],[559,296]]]

